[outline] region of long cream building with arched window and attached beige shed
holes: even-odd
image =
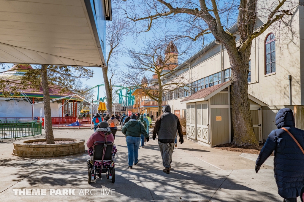
[[[293,110],[294,105],[304,105],[304,22],[301,20],[304,19],[303,13],[303,6],[299,6],[293,15],[294,34],[286,34],[284,40],[278,40],[275,31],[271,29],[253,40],[249,61],[248,95],[254,132],[260,142],[264,142],[269,133],[276,129],[275,115],[279,109]],[[299,15],[303,16],[299,17]],[[257,20],[257,28],[262,24],[261,20]],[[164,100],[168,101],[172,113],[187,117],[189,139],[206,146],[231,142],[233,139],[231,93],[229,93],[230,84],[227,82],[230,80],[231,70],[225,47],[221,50],[221,45],[213,41],[185,63],[180,64],[176,70],[188,64],[191,64],[190,68],[181,74],[189,77],[191,89],[185,91],[180,88],[174,92],[167,92],[164,94]],[[291,78],[291,94],[289,78]],[[219,89],[212,87],[224,82],[227,83]],[[210,94],[206,94],[210,87],[214,89],[209,92]],[[190,98],[191,92],[201,96]],[[226,117],[216,115],[211,111],[212,108],[226,108]],[[203,117],[204,113],[205,117]],[[226,121],[227,123],[219,125],[220,122]],[[216,132],[219,128],[224,131],[223,134],[220,134],[221,131]]]

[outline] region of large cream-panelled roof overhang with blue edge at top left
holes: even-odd
[[[106,67],[110,0],[2,1],[0,62]]]

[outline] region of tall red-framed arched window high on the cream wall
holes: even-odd
[[[275,35],[268,34],[265,41],[265,74],[275,72]]]

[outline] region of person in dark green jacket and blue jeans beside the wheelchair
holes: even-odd
[[[126,135],[126,142],[128,147],[128,168],[133,168],[138,163],[138,147],[140,144],[140,136],[143,134],[149,142],[149,135],[145,127],[136,120],[136,115],[132,114],[130,120],[123,126],[122,132]]]

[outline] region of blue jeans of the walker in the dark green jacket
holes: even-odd
[[[133,166],[134,162],[138,162],[138,147],[140,144],[140,137],[126,137],[128,147],[128,161],[129,166]]]

